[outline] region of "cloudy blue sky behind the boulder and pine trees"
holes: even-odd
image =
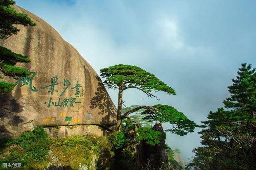
[[[99,73],[133,64],[158,76],[177,92],[158,92],[196,123],[222,107],[227,86],[241,63],[256,67],[255,0],[17,0],[48,22]],[[116,104],[118,92],[108,90]],[[142,97],[142,98],[141,98]],[[154,105],[141,92],[124,94],[127,105]],[[168,124],[164,128],[168,128]],[[196,129],[196,132],[199,129]],[[200,135],[167,133],[166,143],[184,160],[200,146]]]

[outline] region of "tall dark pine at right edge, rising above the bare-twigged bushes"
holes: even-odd
[[[224,100],[227,109],[232,110],[232,119],[238,126],[246,126],[256,133],[256,73],[251,64],[243,63],[237,72],[236,79],[232,79],[233,84],[228,86],[230,98]]]

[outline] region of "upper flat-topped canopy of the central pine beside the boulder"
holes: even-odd
[[[145,92],[155,90],[156,92],[164,91],[168,94],[175,94],[172,88],[159,80],[154,74],[146,72],[138,66],[119,64],[102,68],[100,71],[100,76],[106,78],[104,84],[108,88],[118,89],[120,85],[124,84],[124,88],[126,86],[136,86]]]

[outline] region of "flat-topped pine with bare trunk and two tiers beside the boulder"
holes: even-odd
[[[103,68],[100,70],[101,76],[106,78],[104,84],[108,88],[118,89],[118,108],[117,108],[117,123],[116,131],[120,130],[123,119],[128,119],[135,122],[138,127],[139,123],[131,119],[130,115],[140,109],[145,109],[141,114],[146,115],[143,119],[148,121],[159,121],[160,123],[169,122],[173,125],[172,129],[168,129],[172,133],[178,135],[186,135],[188,132],[193,132],[196,124],[190,121],[183,113],[168,105],[155,106],[138,106],[127,110],[122,114],[123,91],[129,88],[141,90],[149,97],[157,98],[151,92],[163,91],[167,94],[176,94],[175,91],[159,80],[154,74],[146,72],[138,66],[119,64]]]

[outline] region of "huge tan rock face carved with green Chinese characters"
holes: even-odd
[[[48,23],[18,6],[14,8],[28,14],[37,25],[18,25],[17,35],[0,40],[1,46],[31,60],[17,64],[31,72],[30,76],[4,80],[15,87],[0,96],[1,137],[41,125],[58,137],[103,135],[104,130],[114,127],[116,107],[94,69]]]

